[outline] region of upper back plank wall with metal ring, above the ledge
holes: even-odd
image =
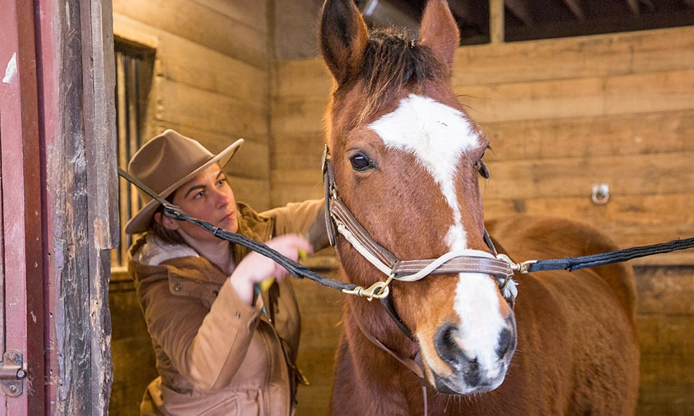
[[[278,73],[273,205],[320,195],[330,91],[318,59],[282,62]],[[454,78],[491,136],[492,176],[482,184],[489,218],[589,220],[624,246],[694,234],[693,28],[466,46]],[[611,198],[598,206],[591,191],[602,182]],[[693,263],[692,254],[666,257]]]

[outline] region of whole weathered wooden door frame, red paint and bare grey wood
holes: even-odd
[[[22,394],[0,392],[0,416],[108,413],[111,10],[0,0],[0,360],[17,350],[26,372],[10,374]]]

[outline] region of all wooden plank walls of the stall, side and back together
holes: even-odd
[[[321,1],[307,1],[314,11]],[[229,166],[239,200],[258,209],[320,198],[323,110],[330,78],[312,58],[310,14],[294,2],[114,1],[119,40],[155,51],[143,137],[176,128],[212,151],[244,137]],[[294,18],[292,17],[294,16]],[[312,15],[311,15],[312,16]],[[270,24],[274,19],[276,24]],[[276,26],[275,29],[273,27]],[[277,31],[276,40],[273,31]],[[281,42],[280,42],[281,41]],[[292,46],[294,45],[294,46]],[[297,46],[298,45],[298,46]],[[274,48],[274,49],[273,49]],[[289,49],[293,50],[287,52]],[[486,215],[556,214],[589,220],[622,247],[694,235],[694,30],[466,46],[455,85],[491,136]],[[273,59],[299,56],[305,60]],[[606,205],[591,202],[608,183]],[[333,275],[330,250],[312,260]],[[693,254],[635,262],[641,295],[639,414],[694,410]],[[111,413],[137,414],[153,354],[133,284],[110,285]],[[342,296],[298,281],[303,313],[300,415],[327,414]],[[522,292],[521,292],[522,295]]]

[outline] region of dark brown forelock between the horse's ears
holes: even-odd
[[[395,28],[369,32],[361,71],[352,81],[362,81],[359,121],[399,98],[403,89],[420,94],[428,81],[447,80],[449,69],[428,46]],[[344,85],[350,84],[350,82]],[[335,91],[337,94],[339,88]]]

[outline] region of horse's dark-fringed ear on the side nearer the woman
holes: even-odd
[[[362,67],[366,23],[353,0],[325,0],[320,32],[323,59],[341,85]]]

